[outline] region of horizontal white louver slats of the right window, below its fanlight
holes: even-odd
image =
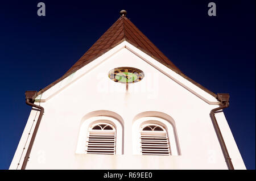
[[[141,152],[143,155],[171,155],[167,134],[141,134]]]

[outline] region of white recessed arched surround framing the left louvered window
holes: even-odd
[[[117,119],[109,116],[89,117],[88,119],[82,122],[80,127],[80,132],[79,132],[79,138],[77,141],[76,154],[86,154],[86,140],[88,138],[88,131],[98,123],[106,123],[106,124],[113,125],[116,131],[116,141],[115,141],[116,153],[115,154],[122,154],[122,140],[123,140],[122,125],[119,123]]]

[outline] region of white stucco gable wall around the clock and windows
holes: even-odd
[[[67,78],[70,81],[60,82],[43,95],[45,102],[40,104],[44,115],[26,169],[227,169],[209,116],[210,110],[218,107],[214,98],[126,42],[114,50],[114,54],[103,56],[104,61],[98,58],[87,65],[87,70],[80,69]],[[150,64],[158,64],[161,71],[177,76],[183,85]],[[108,77],[109,70],[121,66],[141,69],[145,74],[142,81],[129,84],[129,92],[125,84]],[[94,116],[122,119],[122,155],[76,154],[81,123],[94,111],[98,111]],[[172,118],[180,155],[134,155],[133,123],[139,114],[148,111],[152,112],[146,116],[165,113]],[[17,167],[34,114],[31,111],[10,169]],[[245,169],[224,114],[217,113],[216,117],[235,169]]]

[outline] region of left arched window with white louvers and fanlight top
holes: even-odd
[[[87,154],[115,154],[116,132],[112,124],[97,123],[88,130]]]

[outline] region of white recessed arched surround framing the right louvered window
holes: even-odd
[[[175,138],[175,130],[173,125],[160,117],[141,117],[134,121],[133,123],[133,154],[141,155],[141,140],[139,137],[141,136],[141,129],[144,125],[155,124],[160,125],[167,132],[168,139],[170,140],[170,149],[171,155],[179,155],[178,145],[176,144]]]

